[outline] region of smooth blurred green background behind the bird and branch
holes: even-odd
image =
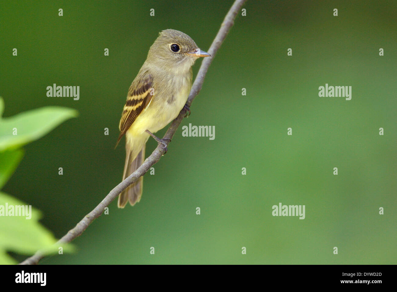
[[[0,2],[4,116],[46,105],[80,113],[25,147],[4,191],[40,209],[57,238],[66,234],[121,181],[118,123],[158,32],[181,30],[208,50],[232,3]],[[112,202],[74,241],[77,253],[42,264],[397,263],[397,2],[244,8],[182,122],[215,126],[215,139],[182,137],[180,127],[145,175],[140,203]],[[46,97],[53,83],[80,86],[80,100]],[[351,101],[318,97],[325,83],[352,86]],[[150,139],[146,156],[155,147]],[[273,217],[280,202],[305,205],[306,218]]]

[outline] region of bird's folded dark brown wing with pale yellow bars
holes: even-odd
[[[123,114],[121,115],[119,124],[120,135],[116,146],[137,116],[150,104],[153,95],[153,78],[150,74],[142,75],[131,84],[127,95],[127,102],[125,102]]]

